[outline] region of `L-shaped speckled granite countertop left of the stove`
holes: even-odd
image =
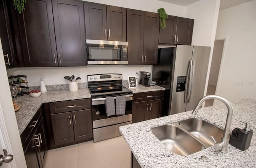
[[[30,95],[17,97],[15,102],[20,103],[20,110],[15,115],[20,134],[22,134],[42,103],[86,99],[90,97],[90,91],[87,88],[78,89],[76,92],[70,92],[69,90],[47,91],[39,97],[31,97]]]

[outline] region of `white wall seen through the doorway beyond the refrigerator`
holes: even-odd
[[[208,85],[212,85],[212,86],[217,85],[223,46],[224,46],[224,40],[216,40],[214,42],[214,48],[212,53],[212,64],[211,64]]]

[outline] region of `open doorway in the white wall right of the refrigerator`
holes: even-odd
[[[214,48],[212,53],[212,63],[208,81],[208,87],[206,95],[215,95],[216,93],[216,86],[218,83],[218,77],[220,73],[220,64],[222,61],[222,54],[224,49],[225,40],[215,40]],[[209,99],[205,102],[204,107],[212,106],[214,103],[214,99]]]

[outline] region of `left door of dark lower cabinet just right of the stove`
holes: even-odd
[[[132,103],[132,123],[146,120],[148,101]]]

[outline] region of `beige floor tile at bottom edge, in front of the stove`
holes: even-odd
[[[106,168],[109,167],[108,153],[104,146],[77,152],[77,168]]]

